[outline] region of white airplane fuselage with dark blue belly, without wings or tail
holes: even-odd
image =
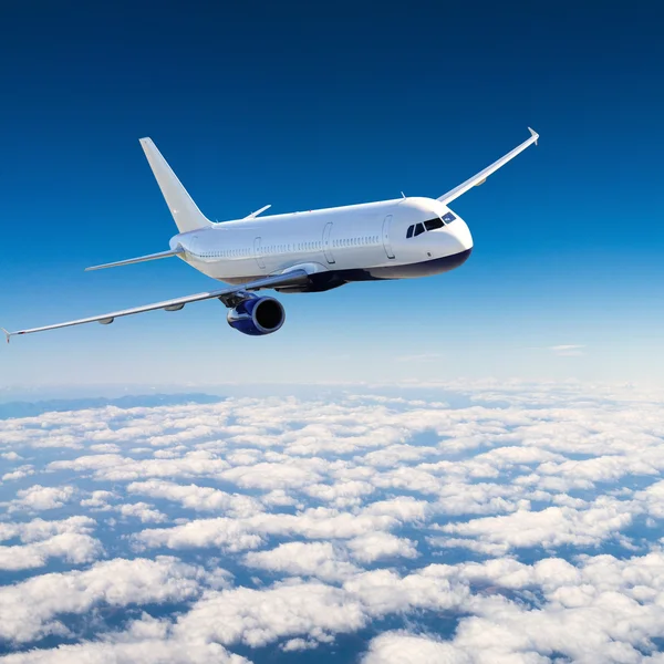
[[[304,269],[310,284],[279,290],[310,292],[446,272],[466,261],[473,238],[447,206],[413,197],[224,221],[174,236],[178,247],[191,267],[231,284]]]

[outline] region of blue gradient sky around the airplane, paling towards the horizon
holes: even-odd
[[[17,339],[0,349],[0,387],[661,382],[662,10],[535,4],[3,7],[10,329],[211,286],[176,260],[83,272],[176,232],[142,136],[219,220],[435,197],[528,125],[541,139],[453,204],[476,243],[459,270],[283,295],[288,322],[264,339],[228,329],[216,302]]]

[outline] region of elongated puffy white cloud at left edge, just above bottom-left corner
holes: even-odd
[[[68,634],[58,615],[93,606],[179,602],[199,592],[203,570],[175,558],[115,559],[85,571],[50,573],[0,588],[0,639],[30,642]]]

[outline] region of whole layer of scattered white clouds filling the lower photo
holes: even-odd
[[[664,395],[427,388],[0,421],[11,661],[655,662]]]

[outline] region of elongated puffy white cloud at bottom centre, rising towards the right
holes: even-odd
[[[329,641],[391,612],[450,610],[468,596],[445,570],[400,577],[387,570],[360,573],[340,588],[318,581],[277,584],[267,590],[234,588],[209,592],[179,618],[175,635],[257,647],[293,636]]]

